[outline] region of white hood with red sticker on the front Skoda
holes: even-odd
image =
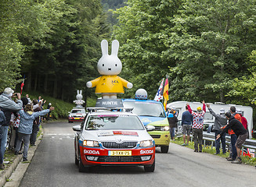
[[[152,139],[145,130],[87,130],[83,133],[85,139],[96,141],[141,141]]]

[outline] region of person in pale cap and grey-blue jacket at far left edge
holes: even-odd
[[[2,125],[2,141],[1,141],[1,158],[0,164],[3,163],[3,157],[5,155],[5,149],[7,146],[8,129],[11,116],[13,112],[20,111],[22,109],[23,102],[20,100],[20,93],[14,94],[13,89],[10,87],[5,88],[4,92],[0,95],[0,108],[5,115],[5,124]],[[17,97],[17,101],[14,102],[12,97]]]

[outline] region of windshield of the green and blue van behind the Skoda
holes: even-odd
[[[132,113],[136,115],[165,118],[164,108],[160,103],[124,101],[124,108],[133,108]]]

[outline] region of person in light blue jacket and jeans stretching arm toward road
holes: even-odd
[[[30,142],[30,136],[32,133],[32,126],[34,119],[40,115],[46,115],[49,111],[54,110],[54,108],[46,109],[44,111],[33,111],[33,107],[31,104],[27,104],[24,110],[19,111],[20,115],[20,125],[18,129],[18,141],[15,149],[15,154],[20,154],[20,146],[23,139],[24,150],[23,150],[23,161],[27,161],[27,151]]]

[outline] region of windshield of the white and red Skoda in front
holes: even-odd
[[[143,130],[137,116],[133,115],[91,115],[85,126],[86,130]]]

